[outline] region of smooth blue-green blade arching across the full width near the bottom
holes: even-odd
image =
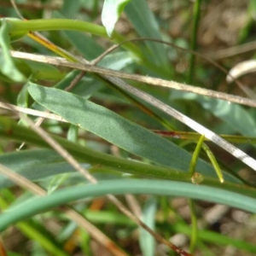
[[[59,189],[55,193],[39,197],[20,204],[19,210],[9,210],[0,215],[0,231],[9,227],[10,224],[25,218],[31,218],[35,214],[45,212],[52,207],[58,207],[71,201],[84,198],[99,197],[108,194],[150,194],[183,196],[196,200],[212,201],[230,207],[236,207],[248,212],[256,212],[256,199],[247,195],[240,195],[224,189],[195,185],[192,183],[181,183],[160,180],[112,180],[96,184],[81,185],[68,189]]]

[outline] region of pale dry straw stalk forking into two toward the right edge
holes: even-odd
[[[188,125],[194,131],[197,131],[200,134],[204,134],[205,137],[207,137],[207,139],[212,141],[212,143],[216,143],[219,147],[224,148],[224,150],[234,155],[237,159],[241,160],[247,166],[250,166],[254,171],[256,171],[256,160],[254,160],[249,155],[245,154],[243,151],[241,151],[241,149],[236,148],[232,144],[225,141],[223,138],[219,137],[216,133],[210,131],[203,125],[198,124],[197,122],[195,122],[195,120],[190,119],[183,113],[180,113],[176,109],[171,108],[170,106],[166,105],[163,102],[160,102],[158,99],[154,98],[154,96],[151,96],[148,93],[143,92],[142,90],[137,90],[137,88],[132,87],[130,84],[125,83],[125,81],[119,78],[133,79],[133,80],[137,80],[147,84],[154,84],[154,85],[174,88],[177,90],[186,90],[190,92],[196,92],[201,95],[222,98],[229,102],[237,102],[237,103],[248,105],[251,107],[256,107],[256,101],[243,98],[240,96],[231,96],[229,94],[216,92],[214,90],[206,90],[202,88],[196,88],[191,85],[183,85],[177,82],[167,81],[164,79],[154,79],[154,78],[136,75],[136,74],[113,71],[108,68],[95,67],[95,66],[90,66],[88,64],[79,64],[79,63],[69,62],[63,58],[49,57],[44,55],[33,55],[33,54],[21,53],[17,51],[11,51],[11,55],[18,58],[29,59],[31,61],[49,63],[55,66],[72,67],[72,68],[76,68],[76,69],[80,69],[80,70],[84,70],[92,73],[101,73],[103,78],[115,84],[121,90],[126,90],[130,92],[132,95],[138,96],[139,98],[143,99],[143,101],[148,102],[149,104],[153,105],[156,108],[159,108],[160,110],[164,111],[168,115],[174,117],[175,119],[178,119],[183,124]]]

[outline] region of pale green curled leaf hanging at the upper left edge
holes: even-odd
[[[9,79],[15,82],[25,82],[26,77],[15,67],[15,61],[9,53],[9,29],[6,20],[1,20],[0,26],[0,71]]]

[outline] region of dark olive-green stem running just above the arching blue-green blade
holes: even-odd
[[[0,137],[4,139],[12,139],[18,142],[31,143],[43,148],[49,148],[49,145],[45,143],[41,137],[38,137],[34,131],[23,126],[19,126],[15,121],[6,118],[0,119]],[[99,169],[102,166],[110,168],[113,171],[131,173],[140,177],[154,177],[191,183],[191,174],[189,174],[189,172],[182,172],[164,166],[151,166],[138,161],[121,159],[109,154],[96,152],[90,148],[85,148],[82,145],[69,142],[61,137],[53,135],[52,137],[57,143],[60,143],[63,148],[66,148],[67,151],[77,160],[87,162],[92,166],[98,166]],[[241,193],[241,195],[249,195],[256,198],[256,189],[241,183],[219,183],[216,178],[204,177],[200,185],[201,184],[235,191],[237,193]]]

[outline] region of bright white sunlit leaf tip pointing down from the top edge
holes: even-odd
[[[111,38],[114,25],[119,20],[125,5],[131,0],[105,0],[102,9],[102,24],[106,27],[108,37]]]

